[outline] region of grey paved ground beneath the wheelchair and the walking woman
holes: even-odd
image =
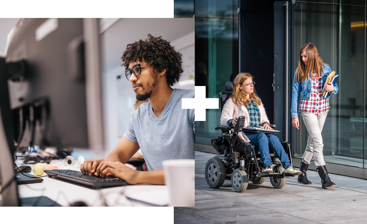
[[[366,223],[367,180],[329,174],[337,185],[322,189],[319,174],[307,171],[312,185],[287,178],[275,189],[269,178],[261,185],[249,182],[237,193],[230,180],[221,188],[210,188],[205,180],[206,162],[214,154],[195,151],[195,207],[175,207],[174,223],[316,224]]]

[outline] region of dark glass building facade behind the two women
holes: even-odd
[[[181,15],[177,10],[176,6],[179,2],[186,3],[186,6],[190,4],[185,14]],[[194,16],[196,18],[195,85],[206,86],[208,98],[219,98],[219,93],[225,91],[224,86],[230,73],[246,72],[239,71],[242,68],[240,65],[245,63],[241,58],[241,51],[246,44],[254,43],[239,41],[241,35],[247,35],[241,32],[241,29],[247,29],[239,13],[240,11],[246,13],[241,8],[242,2],[239,0],[175,0],[175,17]],[[264,2],[264,4],[273,5],[274,3],[275,1]],[[286,4],[285,1],[283,3]],[[315,44],[323,62],[340,75],[339,93],[330,97],[331,110],[322,131],[324,159],[327,164],[339,165],[334,169],[334,173],[366,179],[367,1],[302,0],[289,1],[287,4],[289,7],[288,32],[291,33],[288,36],[290,43],[288,57],[291,68],[288,75],[289,82],[293,82],[301,46],[305,43]],[[274,23],[274,21],[269,22]],[[274,33],[269,35],[273,36]],[[284,41],[286,39],[287,36],[284,36]],[[291,94],[291,88],[290,84],[288,97]],[[288,104],[284,107],[284,113],[290,113],[290,106]],[[196,122],[195,142],[198,146],[207,145],[209,149],[210,140],[220,135],[214,130],[219,124],[220,109],[207,109],[206,112],[206,121]],[[272,111],[267,110],[267,113],[270,114]],[[301,120],[301,116],[299,118]],[[274,119],[277,120],[276,117]],[[288,126],[285,128],[289,132],[288,141],[292,144],[292,156],[297,161],[294,165],[298,166],[297,158],[301,158],[305,151],[308,132],[302,121],[300,129],[296,130],[291,126],[290,116],[288,119]],[[272,122],[271,119],[270,122]],[[214,149],[212,150],[215,152]]]

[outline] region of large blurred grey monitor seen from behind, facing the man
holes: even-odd
[[[98,27],[96,18],[27,18],[11,30],[0,68],[9,95],[0,100],[0,134],[10,155],[14,145],[104,149]],[[2,187],[6,167],[14,172],[8,160],[0,157]]]

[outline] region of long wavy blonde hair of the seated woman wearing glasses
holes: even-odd
[[[256,93],[255,86],[254,92],[252,92],[248,97],[239,88],[239,85],[243,84],[249,78],[254,80],[254,76],[252,76],[250,73],[241,72],[236,76],[235,80],[233,81],[233,91],[230,94],[230,98],[232,98],[233,102],[235,102],[237,106],[244,105],[248,108],[248,104],[251,103],[251,99],[255,101],[256,105],[261,105],[261,100]]]

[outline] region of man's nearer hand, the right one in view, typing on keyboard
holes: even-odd
[[[94,174],[101,177],[115,177],[126,180],[129,184],[136,184],[138,172],[121,162],[102,161]]]

